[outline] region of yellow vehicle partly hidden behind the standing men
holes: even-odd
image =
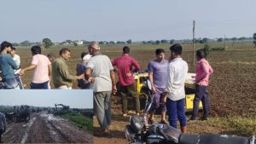
[[[195,98],[195,78],[192,78],[195,76],[195,73],[188,73],[186,81],[185,81],[185,109],[186,112],[191,112],[193,110],[193,100]],[[135,76],[135,79],[137,81],[137,95],[140,96],[140,99],[142,100],[142,105],[145,104],[146,101],[148,101],[148,72],[138,73]],[[150,85],[151,86],[151,85]],[[149,86],[149,87],[150,87]],[[199,108],[202,109],[202,104],[200,102]]]

